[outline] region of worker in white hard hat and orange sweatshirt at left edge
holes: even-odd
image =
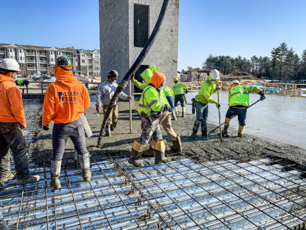
[[[17,185],[39,180],[39,176],[30,175],[27,144],[21,130],[27,124],[21,93],[14,84],[18,71],[20,69],[15,59],[5,58],[0,63],[0,188],[7,180],[15,177],[10,170],[9,150],[15,163]]]

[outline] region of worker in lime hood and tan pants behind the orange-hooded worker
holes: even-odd
[[[140,83],[138,82],[134,77],[132,77],[132,82],[133,84],[137,87],[140,88],[142,90],[144,90],[146,87],[148,87],[148,85],[151,82],[151,78],[153,76],[153,71],[156,71],[156,68],[150,67],[149,69],[146,69],[145,71],[143,71],[140,76],[142,78],[142,82]],[[160,92],[161,95],[161,102],[170,106],[170,103],[168,102],[165,94],[164,94],[164,90],[162,90]],[[173,99],[172,99],[173,100]],[[173,111],[173,110],[172,110]],[[165,111],[163,112],[162,116],[159,119],[159,124],[161,124],[164,128],[164,130],[166,131],[167,135],[171,138],[171,141],[173,143],[173,147],[174,147],[174,152],[182,152],[182,143],[181,143],[181,138],[180,136],[176,135],[176,133],[174,132],[173,128],[172,128],[172,124],[171,124],[171,112],[169,111]],[[144,153],[147,154],[147,153]],[[149,156],[153,156],[154,154],[154,141],[153,141],[153,137],[150,138],[150,147],[149,147],[149,153],[147,155]]]

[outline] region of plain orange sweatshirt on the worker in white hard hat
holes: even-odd
[[[11,77],[0,74],[0,122],[26,124],[19,88]]]

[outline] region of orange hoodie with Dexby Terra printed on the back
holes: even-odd
[[[53,71],[56,81],[49,85],[44,99],[42,123],[45,126],[51,120],[55,124],[74,122],[90,106],[87,88],[75,79],[72,71],[60,67],[54,67]]]

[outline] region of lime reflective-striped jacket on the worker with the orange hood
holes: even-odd
[[[163,112],[165,104],[162,102],[165,97],[163,90],[158,90],[153,86],[147,86],[144,88],[138,105],[138,114],[141,112],[151,116],[151,111]]]

